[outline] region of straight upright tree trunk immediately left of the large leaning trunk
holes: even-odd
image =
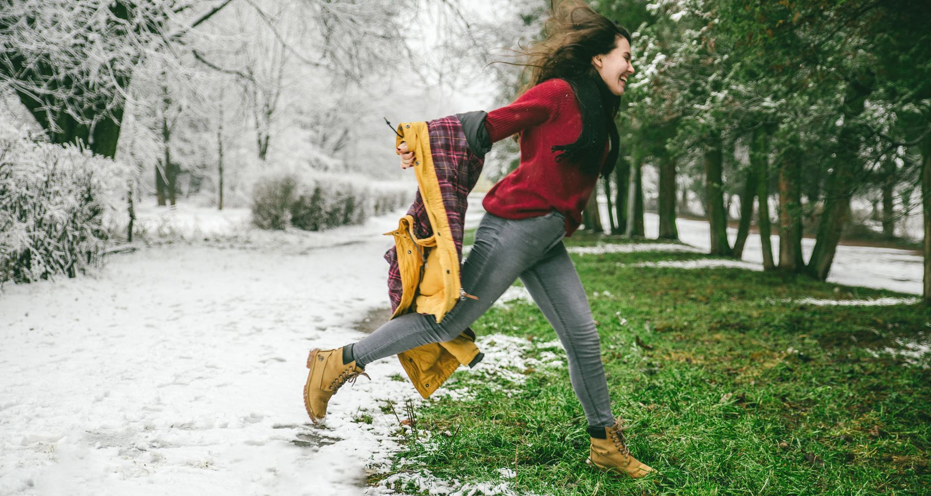
[[[779,166],[779,270],[800,273],[802,256],[802,185],[799,149],[789,146]]]

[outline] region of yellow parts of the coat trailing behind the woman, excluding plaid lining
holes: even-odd
[[[451,122],[446,124],[451,125]],[[403,286],[400,303],[391,318],[419,312],[435,315],[439,323],[462,298],[477,298],[468,295],[460,285],[460,261],[434,168],[427,123],[399,124],[396,146],[401,141],[407,141],[408,148],[416,157],[414,173],[433,235],[418,239],[413,233],[414,219],[411,215],[405,215],[398,221],[397,230],[384,233],[395,236],[398,271]],[[423,257],[425,250],[428,250],[426,261]],[[475,333],[466,329],[452,341],[424,344],[399,353],[398,359],[414,388],[427,397],[460,365],[474,367],[478,363],[483,354],[476,346],[475,338]]]

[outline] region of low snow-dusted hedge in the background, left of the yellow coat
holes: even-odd
[[[252,221],[263,229],[321,231],[359,224],[413,201],[416,184],[375,184],[358,175],[277,170],[252,189]]]

